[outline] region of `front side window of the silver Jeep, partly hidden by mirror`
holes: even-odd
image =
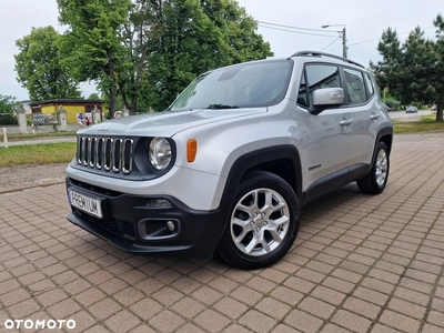
[[[305,65],[305,75],[301,80],[297,103],[304,107],[312,107],[312,92],[324,88],[341,88],[339,68],[331,64]]]

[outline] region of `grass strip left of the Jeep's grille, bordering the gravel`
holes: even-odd
[[[0,167],[68,163],[74,155],[74,142],[0,147]]]

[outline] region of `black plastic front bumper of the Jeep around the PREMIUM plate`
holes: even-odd
[[[215,251],[226,221],[219,210],[192,210],[172,196],[118,193],[70,178],[68,189],[100,199],[103,212],[99,219],[71,205],[68,220],[130,253],[209,256]],[[155,200],[167,200],[170,205],[153,205]]]

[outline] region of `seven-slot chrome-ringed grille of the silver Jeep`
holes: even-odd
[[[129,174],[133,145],[132,139],[78,135],[77,161],[79,165]]]

